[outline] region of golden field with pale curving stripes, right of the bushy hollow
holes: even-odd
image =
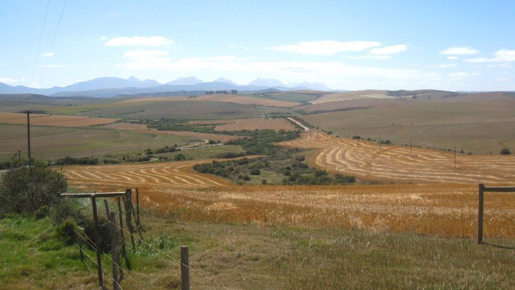
[[[406,146],[379,146],[370,141],[334,138],[322,132],[304,132],[284,146],[317,149],[312,166],[359,180],[397,183],[506,183],[513,182],[515,156],[456,155]]]

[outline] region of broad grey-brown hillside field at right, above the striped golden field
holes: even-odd
[[[515,148],[515,98],[505,93],[467,94],[438,101],[361,100],[303,106],[307,111],[330,109],[301,116],[333,136],[359,135],[424,148],[454,149],[497,154]],[[354,109],[353,109],[354,108]],[[350,110],[349,110],[350,109]]]

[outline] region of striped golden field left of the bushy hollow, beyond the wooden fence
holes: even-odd
[[[212,160],[184,162],[121,164],[102,166],[67,166],[64,173],[68,182],[85,187],[129,188],[156,187],[215,187],[230,186],[231,183],[210,174],[200,174],[192,169],[199,163]],[[123,189],[121,188],[121,189]]]

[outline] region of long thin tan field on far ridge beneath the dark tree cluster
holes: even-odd
[[[195,97],[190,96],[153,96],[145,98],[134,98],[122,101],[121,103],[134,103],[134,102],[155,102],[155,101],[213,101],[213,102],[226,102],[244,105],[259,105],[270,107],[294,107],[300,103],[285,102],[280,100],[270,100],[262,98],[252,98],[251,96],[242,96],[237,94],[212,94],[212,95],[199,95]]]

